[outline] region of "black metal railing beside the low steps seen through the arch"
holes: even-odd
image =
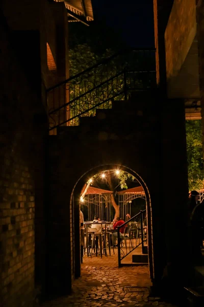
[[[142,253],[145,253],[144,243],[147,242],[147,227],[144,225],[145,215],[146,209],[141,210],[138,214],[117,228],[118,267],[122,266],[121,260],[138,246],[142,245]],[[122,227],[125,227],[124,233],[120,235],[120,229]]]

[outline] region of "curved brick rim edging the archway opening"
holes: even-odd
[[[80,193],[82,187],[87,182],[87,177],[90,178],[93,174],[105,171],[108,169],[119,168],[121,170],[127,171],[137,179],[140,185],[143,187],[146,195],[146,210],[147,210],[147,225],[148,225],[148,259],[149,259],[149,273],[150,278],[154,279],[154,253],[153,253],[153,237],[152,237],[152,210],[151,210],[151,200],[148,187],[139,174],[133,169],[118,164],[104,164],[97,167],[94,167],[84,173],[81,178],[75,183],[70,199],[70,207],[72,208],[72,223],[74,225],[74,237],[72,238],[72,250],[74,257],[74,275],[79,277],[81,275],[81,261],[80,261],[80,232],[79,232],[79,210],[80,210]]]

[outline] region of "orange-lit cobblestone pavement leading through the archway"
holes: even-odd
[[[150,297],[147,266],[90,267],[82,265],[82,277],[73,282],[72,294],[48,301],[43,307],[159,306],[174,307],[160,297]]]

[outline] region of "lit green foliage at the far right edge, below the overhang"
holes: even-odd
[[[201,120],[186,121],[189,190],[203,187]]]

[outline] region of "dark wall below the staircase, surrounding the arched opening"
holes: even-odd
[[[130,110],[125,117],[128,108],[124,108],[121,112],[123,119],[118,119],[119,115],[117,114],[117,118],[110,119],[110,122],[106,121],[107,125],[103,123],[101,126],[100,124],[86,126],[85,124],[80,127],[71,127],[70,133],[67,135],[50,136],[48,159],[50,171],[48,177],[50,191],[49,234],[53,242],[50,239],[49,271],[52,274],[49,280],[55,280],[56,289],[58,287],[61,290],[66,285],[64,291],[68,292],[71,280],[80,275],[79,195],[87,178],[93,176],[93,168],[95,167],[96,173],[103,168],[104,164],[122,164],[130,167],[139,173],[147,184],[152,204],[152,216],[154,217],[154,222],[151,223],[151,217],[148,215],[148,223],[151,224],[149,229],[152,227],[154,231],[155,246],[155,258],[150,260],[151,273],[155,265],[155,278],[161,278],[164,266],[162,261],[165,261],[165,257],[161,260],[165,242],[162,230],[164,225],[160,221],[160,217],[163,215],[163,200],[158,197],[158,185],[160,186],[161,180],[161,130],[158,124],[158,107],[154,106],[155,103],[158,106],[158,101],[156,99],[154,102],[152,97],[156,99],[156,93],[152,93],[151,99],[148,96],[134,100],[134,103],[140,101],[139,105],[148,110],[148,115],[145,115],[147,118],[139,118],[136,113],[131,113]],[[144,106],[146,104],[148,107]],[[130,118],[130,114],[133,118]],[[108,130],[108,139],[100,140],[98,137],[100,131],[106,130]],[[95,152],[97,155],[94,154]],[[73,187],[86,172],[88,173],[82,179],[83,182],[74,189],[70,210],[68,204],[71,200]],[[68,229],[70,229],[70,233]],[[74,236],[71,236],[72,230],[74,230]],[[61,242],[57,240],[59,234]],[[71,244],[72,242],[73,244]],[[60,262],[56,250],[62,253]],[[154,262],[153,265],[152,262]],[[61,267],[64,268],[63,272]],[[58,272],[61,274],[59,275]],[[68,272],[69,275],[67,275]],[[51,283],[54,284],[53,281]]]

